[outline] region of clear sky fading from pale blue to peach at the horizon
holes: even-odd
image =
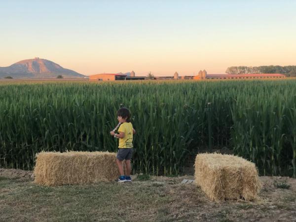
[[[295,0],[0,0],[0,67],[223,74],[296,65]]]

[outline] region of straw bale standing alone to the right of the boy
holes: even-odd
[[[195,184],[215,201],[254,200],[261,188],[255,164],[234,155],[197,154],[194,178]]]

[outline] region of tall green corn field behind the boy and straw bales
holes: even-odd
[[[41,150],[116,151],[121,106],[134,173],[182,174],[190,153],[227,147],[261,175],[296,177],[294,79],[0,84],[0,167],[32,170]]]

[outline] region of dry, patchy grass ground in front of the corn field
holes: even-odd
[[[133,183],[39,186],[0,176],[0,221],[293,221],[296,218],[296,180],[290,189],[264,184],[260,200],[213,202],[190,177],[151,177]],[[161,185],[159,185],[161,183]]]

